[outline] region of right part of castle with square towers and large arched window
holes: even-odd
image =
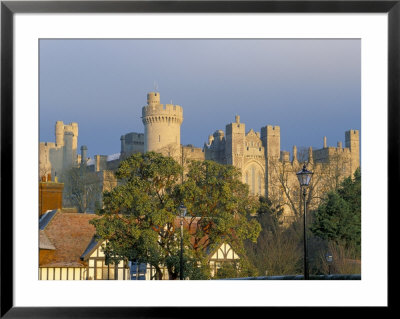
[[[334,189],[360,166],[359,131],[345,132],[346,147],[338,142],[337,147],[328,147],[326,137],[322,149],[308,149],[304,160],[307,169],[314,172],[310,187],[310,209],[318,205],[321,194]],[[245,132],[245,124],[236,116],[235,122],[223,131],[216,131],[204,145],[206,160],[231,164],[242,173],[242,181],[249,186],[250,194],[269,197],[276,206],[284,210],[284,218],[290,219],[300,211],[300,187],[296,173],[304,161],[298,160],[297,147],[290,153],[280,149],[280,127],[267,125],[261,133]]]

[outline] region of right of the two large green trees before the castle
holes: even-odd
[[[237,168],[192,161],[184,183],[176,190],[177,198],[187,207],[189,245],[196,259],[206,258],[207,249],[213,250],[223,242],[246,258],[244,240],[256,241],[261,231],[251,218],[259,204],[249,196]]]

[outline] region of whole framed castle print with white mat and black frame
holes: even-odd
[[[397,208],[393,186],[399,176],[399,18],[398,1],[2,1],[1,316],[125,318],[180,316],[185,307],[215,307],[217,312],[239,306],[388,307],[389,212]],[[328,146],[330,137],[338,140],[334,147]],[[179,218],[168,221],[168,245],[174,253],[158,254],[155,264],[146,259],[150,246],[134,252],[127,252],[133,245],[126,242],[112,246],[115,237],[107,237],[110,233],[102,228],[108,219],[97,219],[111,216],[107,209],[120,196],[112,190],[123,191],[108,172],[128,163],[130,156],[139,161],[140,154],[152,151],[183,167],[171,184],[181,188],[174,188],[170,197],[166,189],[175,186],[162,185],[157,191],[162,205],[165,198],[174,203],[162,206],[163,212],[173,207]],[[197,197],[191,195],[189,201],[185,196],[195,191],[185,188],[185,178],[193,176],[197,183],[195,176],[204,169],[200,164],[185,166],[191,160],[236,167],[243,188],[229,184],[220,190],[218,183],[207,184],[210,195],[201,192],[205,184],[193,182],[190,187],[202,187],[195,188]],[[332,165],[324,164],[328,162]],[[292,177],[285,175],[287,167]],[[84,199],[73,198],[78,183],[74,168],[79,168],[78,179],[86,174],[92,181],[90,189],[88,184],[82,188]],[[207,166],[206,175],[210,170]],[[122,169],[118,174],[124,177]],[[308,178],[301,179],[302,174]],[[329,254],[321,255],[321,266],[316,266],[315,251],[326,246],[324,237],[318,237],[325,221],[315,226],[314,212],[328,209],[328,204],[320,208],[321,194],[342,189],[342,181],[357,174],[362,175],[361,207],[357,204],[361,232],[343,231],[358,243],[357,257],[341,257],[357,270],[335,277]],[[329,181],[321,177],[328,175]],[[136,198],[138,189],[121,196]],[[211,198],[228,196],[227,189],[235,195],[224,197],[229,204],[211,216]],[[274,272],[272,266],[253,269],[240,263],[245,248],[235,239],[250,240],[253,232],[262,231],[256,223],[246,224],[248,219],[236,222],[242,211],[261,216],[259,206],[243,194],[257,203],[268,194],[269,207],[282,214],[279,222],[286,228],[293,221],[299,227],[304,222],[304,251],[301,246],[300,264],[294,263],[304,274],[287,270],[284,275],[293,271],[294,276],[278,278],[280,270]],[[139,207],[143,196],[137,196],[126,208],[140,212],[128,222],[135,225],[128,237],[142,247],[135,227],[143,212],[151,216],[149,223],[161,217],[154,214],[156,206],[146,208],[151,199]],[[339,220],[350,229],[353,219],[343,213],[350,203],[340,200]],[[333,203],[339,205],[337,201]],[[201,228],[201,205],[209,205],[204,210],[204,220],[212,220],[207,227],[222,218],[217,214],[237,205],[232,208],[236,219],[225,226],[235,229],[234,236],[218,224],[220,237],[226,239],[219,241],[206,226]],[[118,209],[113,215],[117,219],[123,212]],[[103,215],[94,214],[99,211]],[[309,239],[308,245],[306,212],[313,212],[313,234],[321,239]],[[192,222],[200,229],[198,238],[191,233]],[[117,227],[115,220],[111,223]],[[151,226],[154,230],[159,225]],[[160,243],[167,230],[158,228]],[[96,233],[103,234],[103,241]],[[190,268],[189,254],[187,260],[184,254],[193,249],[195,255],[193,246],[204,241],[215,247],[203,247],[208,264],[200,274],[199,263]],[[69,255],[58,254],[60,247]],[[254,260],[272,259],[272,248],[249,247],[255,247]],[[270,249],[268,258],[257,259],[265,249]],[[120,260],[120,253],[140,257]],[[115,258],[111,264],[110,256]],[[158,267],[161,258],[164,268]],[[139,277],[146,280],[125,281]],[[147,280],[155,278],[200,280]],[[298,280],[303,278],[340,280]]]

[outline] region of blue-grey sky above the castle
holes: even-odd
[[[240,115],[246,131],[281,127],[281,149],[344,145],[361,128],[358,39],[40,40],[40,141],[56,121],[78,122],[88,156],[120,151],[143,133],[141,109],[157,83],[161,103],[183,107],[181,143],[202,147]]]

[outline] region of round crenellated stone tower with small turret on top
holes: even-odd
[[[144,151],[174,156],[180,152],[183,110],[179,105],[160,104],[160,94],[147,94],[147,105],[142,108]]]

